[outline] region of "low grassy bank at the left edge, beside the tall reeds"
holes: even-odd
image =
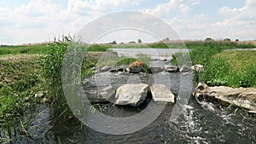
[[[36,104],[45,100],[41,68],[38,55],[0,57],[0,130],[4,130],[0,143],[16,135],[29,135],[32,119],[24,120],[24,116],[31,116]]]

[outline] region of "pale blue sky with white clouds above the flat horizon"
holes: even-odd
[[[255,9],[256,0],[0,0],[0,44],[43,43],[61,35],[74,36],[92,20],[121,11],[152,14],[183,40],[255,40]],[[98,43],[155,40],[144,35],[113,32]]]

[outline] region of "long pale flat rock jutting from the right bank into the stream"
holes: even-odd
[[[254,88],[230,88],[226,86],[209,87],[207,84],[198,84],[195,89],[197,101],[217,100],[222,105],[235,105],[243,107],[250,112],[256,112],[256,89]]]

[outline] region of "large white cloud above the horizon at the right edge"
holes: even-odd
[[[223,7],[218,9],[222,15],[218,21],[207,14],[194,16],[178,15],[166,20],[183,39],[204,39],[213,37],[223,39],[255,39],[256,34],[256,1],[247,0],[241,8]]]

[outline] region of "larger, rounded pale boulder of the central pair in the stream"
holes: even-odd
[[[139,106],[148,95],[148,84],[124,84],[116,90],[115,104]]]

